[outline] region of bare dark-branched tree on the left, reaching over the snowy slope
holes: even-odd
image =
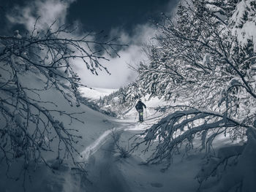
[[[108,72],[99,63],[108,60],[102,53],[120,46],[114,40],[94,40],[99,34],[79,37],[69,26],[56,30],[52,26],[37,31],[35,24],[31,34],[24,37],[18,31],[14,36],[0,36],[0,163],[10,169],[16,159],[23,159],[24,174],[31,164],[36,167],[45,163],[55,169],[45,160],[52,152],[57,154],[59,164],[72,158],[78,169],[84,169],[75,158],[79,155],[75,148],[81,139],[79,134],[58,119],[62,115],[70,123],[82,122],[77,117],[79,112],[60,110],[54,101],[62,97],[71,107],[74,102],[78,107],[80,77],[75,73],[74,61],[83,61],[94,74],[98,69]],[[56,98],[48,98],[49,91]]]

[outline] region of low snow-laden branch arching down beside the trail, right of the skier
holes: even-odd
[[[148,128],[142,142],[135,147],[145,143],[146,150],[157,142],[154,154],[148,159],[148,163],[159,164],[161,162],[170,165],[173,154],[179,152],[181,144],[187,145],[187,150],[193,148],[193,142],[198,135],[202,135],[201,149],[210,150],[211,143],[218,134],[228,132],[236,128],[249,128],[232,118],[228,118],[217,112],[203,110],[176,111],[158,123]],[[207,147],[208,146],[208,147]]]

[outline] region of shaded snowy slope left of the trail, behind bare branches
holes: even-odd
[[[21,82],[23,85],[29,88],[36,88],[37,90],[44,90],[44,84],[40,77],[34,74],[27,74],[20,76],[22,78]],[[102,92],[99,91],[96,95],[101,95]],[[73,107],[70,107],[69,102],[61,96],[61,94],[56,91],[55,88],[49,88],[45,91],[40,91],[39,95],[35,93],[28,93],[29,96],[40,101],[44,101],[41,105],[49,110],[59,110],[62,112],[74,114],[75,118],[83,121],[84,123],[78,120],[72,120],[66,116],[61,115],[59,112],[52,112],[54,119],[62,122],[64,127],[67,129],[75,129],[75,134],[82,137],[79,139],[77,144],[74,144],[76,149],[81,153],[86,147],[94,143],[100,135],[105,131],[110,130],[111,128],[116,127],[116,122],[113,118],[110,118],[106,115],[103,115],[100,112],[91,110],[86,105],[81,104],[80,107],[75,107],[75,98],[72,93],[67,89],[65,94],[69,101],[72,102]],[[50,101],[52,103],[45,103],[45,101]],[[54,104],[53,104],[54,103]],[[77,113],[77,114],[75,114]],[[52,130],[53,131],[53,130]],[[72,132],[74,133],[74,131]],[[54,134],[54,131],[53,131]],[[15,161],[10,166],[7,178],[7,165],[4,161],[1,161],[0,164],[0,191],[23,191],[23,188],[26,191],[84,191],[83,183],[81,181],[80,174],[76,171],[72,165],[72,158],[68,158],[64,161],[64,164],[61,166],[56,166],[53,170],[49,169],[48,166],[54,167],[56,164],[56,147],[58,147],[58,142],[53,140],[51,145],[53,152],[42,153],[48,165],[44,163],[38,164],[37,169],[34,169],[34,164],[29,166],[28,174],[26,174],[26,180],[23,183],[24,175],[20,174],[23,167],[23,158],[16,158]],[[83,161],[78,154],[74,153],[75,158],[79,161]],[[12,179],[12,178],[15,178]],[[86,180],[86,179],[85,179]]]

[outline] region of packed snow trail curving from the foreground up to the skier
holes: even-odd
[[[82,159],[87,163],[89,181],[86,182],[86,191],[89,192],[132,192],[127,185],[124,174],[118,167],[119,158],[114,154],[115,142],[112,134],[119,138],[127,132],[135,133],[143,128],[134,122],[135,116],[130,115],[125,120],[113,122],[114,128],[104,131],[91,145],[81,152]],[[146,123],[143,123],[146,126]]]

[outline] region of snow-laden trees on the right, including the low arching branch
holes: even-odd
[[[188,152],[198,139],[210,153],[214,139],[228,133],[231,140],[247,139],[245,147],[220,155],[208,166],[212,172],[199,174],[199,181],[238,158],[236,185],[224,185],[228,174],[220,174],[219,191],[255,190],[255,12],[251,0],[181,1],[175,19],[164,15],[157,24],[159,45],[151,47],[149,66],[140,67],[140,80],[150,93],[171,93],[167,99],[179,97],[183,104],[167,107],[165,118],[138,142],[146,144],[146,150],[158,142],[148,163],[170,166],[181,147]],[[165,91],[159,91],[162,88]],[[242,166],[245,171],[239,173]]]

